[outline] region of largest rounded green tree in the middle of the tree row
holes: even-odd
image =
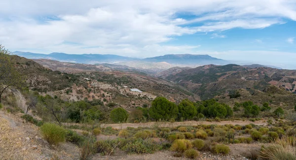
[[[156,97],[149,109],[149,115],[155,120],[169,120],[170,118],[176,118],[178,114],[178,106],[166,99],[165,97]]]

